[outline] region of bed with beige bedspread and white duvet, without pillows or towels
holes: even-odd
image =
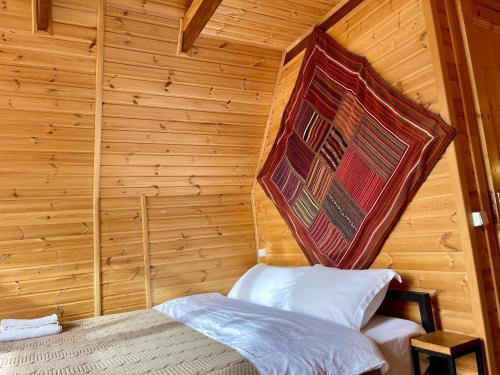
[[[424,326],[432,328],[428,296],[393,291],[387,298],[418,302]],[[0,344],[0,373],[403,375],[411,373],[409,338],[423,332],[414,322],[381,315],[358,332],[208,293]]]

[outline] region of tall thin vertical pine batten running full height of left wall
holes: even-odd
[[[94,179],[92,186],[92,210],[94,229],[94,310],[95,315],[101,315],[101,225],[99,188],[101,177],[101,128],[102,128],[102,95],[104,68],[104,18],[106,0],[97,2],[97,56],[96,56],[96,93],[95,93],[95,123],[94,123]]]

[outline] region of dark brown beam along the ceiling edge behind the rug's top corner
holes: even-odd
[[[361,4],[363,0],[342,0],[337,4],[331,11],[329,11],[317,24],[315,27],[319,27],[323,31],[328,31],[332,26],[339,22],[342,18],[347,16],[354,8]],[[311,39],[311,33],[314,28],[310,29],[306,35],[297,40],[292,44],[286,54],[283,61],[283,65],[289,63],[295,56],[299,55],[303,50],[306,49]]]

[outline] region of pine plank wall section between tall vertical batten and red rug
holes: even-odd
[[[250,191],[281,54],[201,37],[175,6],[108,0],[101,156],[103,312],[227,292],[256,263]]]

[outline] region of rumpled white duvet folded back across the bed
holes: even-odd
[[[358,375],[388,367],[365,335],[302,314],[216,293],[178,298],[155,309],[235,349],[261,375]]]

